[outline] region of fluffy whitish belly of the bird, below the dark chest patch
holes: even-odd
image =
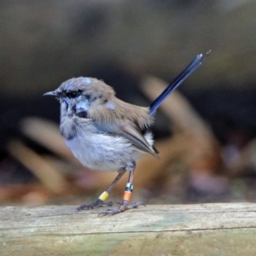
[[[135,156],[131,143],[123,137],[87,134],[65,142],[83,166],[94,170],[119,171]]]

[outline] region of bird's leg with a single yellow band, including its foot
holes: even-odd
[[[115,203],[114,201],[108,201],[108,202],[104,202],[108,199],[108,195],[110,190],[113,188],[113,186],[118,183],[119,179],[125,174],[125,169],[124,170],[120,170],[119,171],[119,175],[113,180],[113,183],[111,183],[111,185],[108,187],[108,189],[106,191],[104,191],[102,193],[102,195],[99,196],[99,198],[93,202],[90,205],[82,205],[80,207],[77,208],[77,211],[83,211],[83,210],[89,210],[89,209],[93,209],[93,208],[97,208],[97,207],[113,207],[113,204]]]

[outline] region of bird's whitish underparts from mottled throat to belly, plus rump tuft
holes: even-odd
[[[89,119],[82,121],[62,116],[61,130],[73,155],[82,165],[93,170],[119,171],[144,154],[125,137],[98,133],[96,126]],[[74,133],[71,137],[72,131]],[[150,145],[154,143],[151,133],[145,137]]]

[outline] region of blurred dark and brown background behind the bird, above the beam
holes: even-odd
[[[161,160],[139,161],[132,201],[256,201],[255,13],[253,0],[0,3],[0,204],[89,204],[117,175],[73,158],[44,92],[96,77],[148,106],[209,49],[157,113]]]

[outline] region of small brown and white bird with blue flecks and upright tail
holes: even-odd
[[[148,130],[153,125],[154,113],[161,102],[201,66],[204,59],[205,56],[197,55],[149,108],[123,102],[102,80],[87,77],[68,79],[58,89],[44,94],[55,96],[61,103],[61,135],[82,165],[92,170],[119,172],[95,202],[78,207],[78,211],[112,207],[113,201],[106,202],[109,192],[125,172],[129,172],[129,178],[122,203],[99,215],[113,215],[143,205],[143,202],[130,205],[129,201],[137,160],[145,153],[159,158],[153,135]]]

